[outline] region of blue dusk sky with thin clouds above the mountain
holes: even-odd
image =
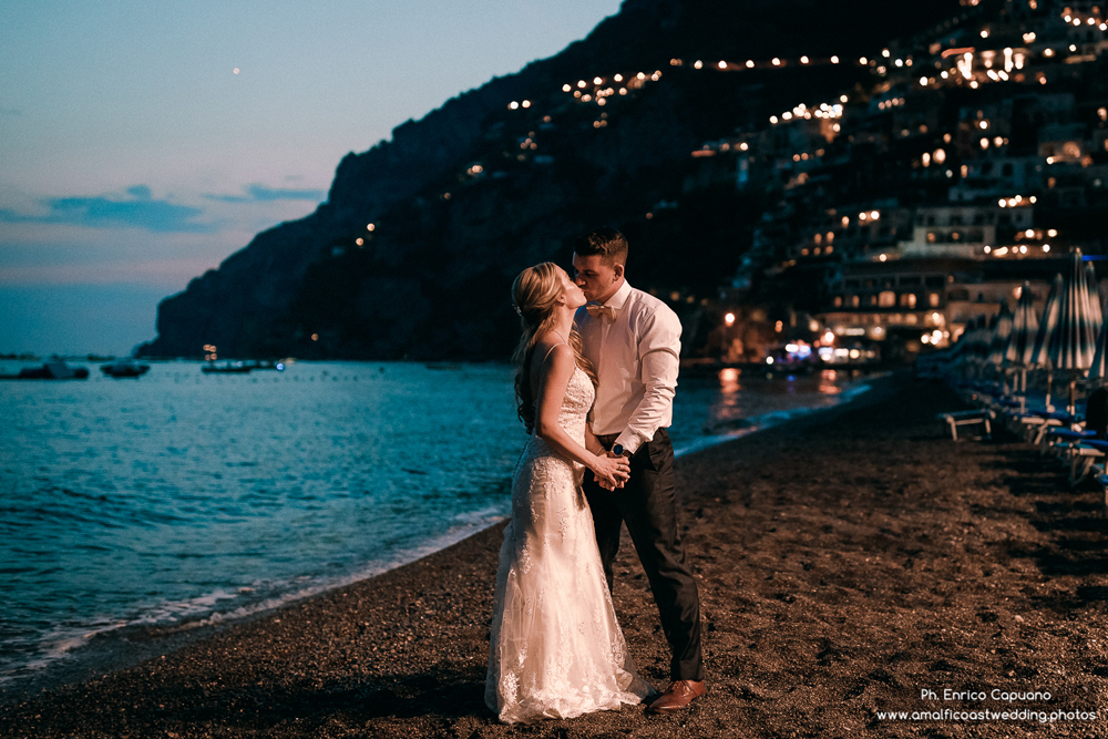
[[[0,0],[0,352],[129,352],[345,154],[618,8]]]

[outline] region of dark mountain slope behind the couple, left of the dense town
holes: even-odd
[[[628,236],[634,285],[694,310],[735,273],[767,203],[698,179],[691,153],[870,74],[766,64],[872,57],[982,11],[957,0],[625,0],[557,55],[347,155],[314,214],[163,300],[140,353],[505,358],[514,276],[546,259],[568,266],[572,237],[602,224]],[[739,70],[748,59],[757,68]],[[720,60],[728,69],[697,73]]]

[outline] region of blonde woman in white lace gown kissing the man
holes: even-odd
[[[585,296],[550,261],[524,269],[512,295],[523,318],[515,394],[533,433],[512,480],[485,679],[485,704],[509,723],[618,709],[652,692],[616,623],[581,491],[585,469],[608,487],[629,469],[586,425],[594,376],[573,328]]]

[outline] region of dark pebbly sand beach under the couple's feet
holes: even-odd
[[[1015,439],[952,442],[934,415],[962,407],[944,386],[897,374],[848,406],[678,461],[709,680],[679,715],[495,720],[482,697],[496,526],[8,702],[0,736],[1104,736],[1102,493],[1071,492],[1060,464]],[[668,653],[626,536],[616,573],[632,653],[664,689]],[[986,709],[1009,717],[957,718]]]

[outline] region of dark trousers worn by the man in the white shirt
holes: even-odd
[[[611,448],[616,438],[598,439]],[[608,589],[612,589],[612,565],[619,551],[620,525],[626,523],[650,581],[661,628],[673,653],[671,679],[702,680],[700,596],[677,527],[674,445],[669,433],[658,429],[653,440],[639,447],[630,458],[630,480],[623,487],[604,490],[586,471],[584,489],[593,511],[596,544]]]

